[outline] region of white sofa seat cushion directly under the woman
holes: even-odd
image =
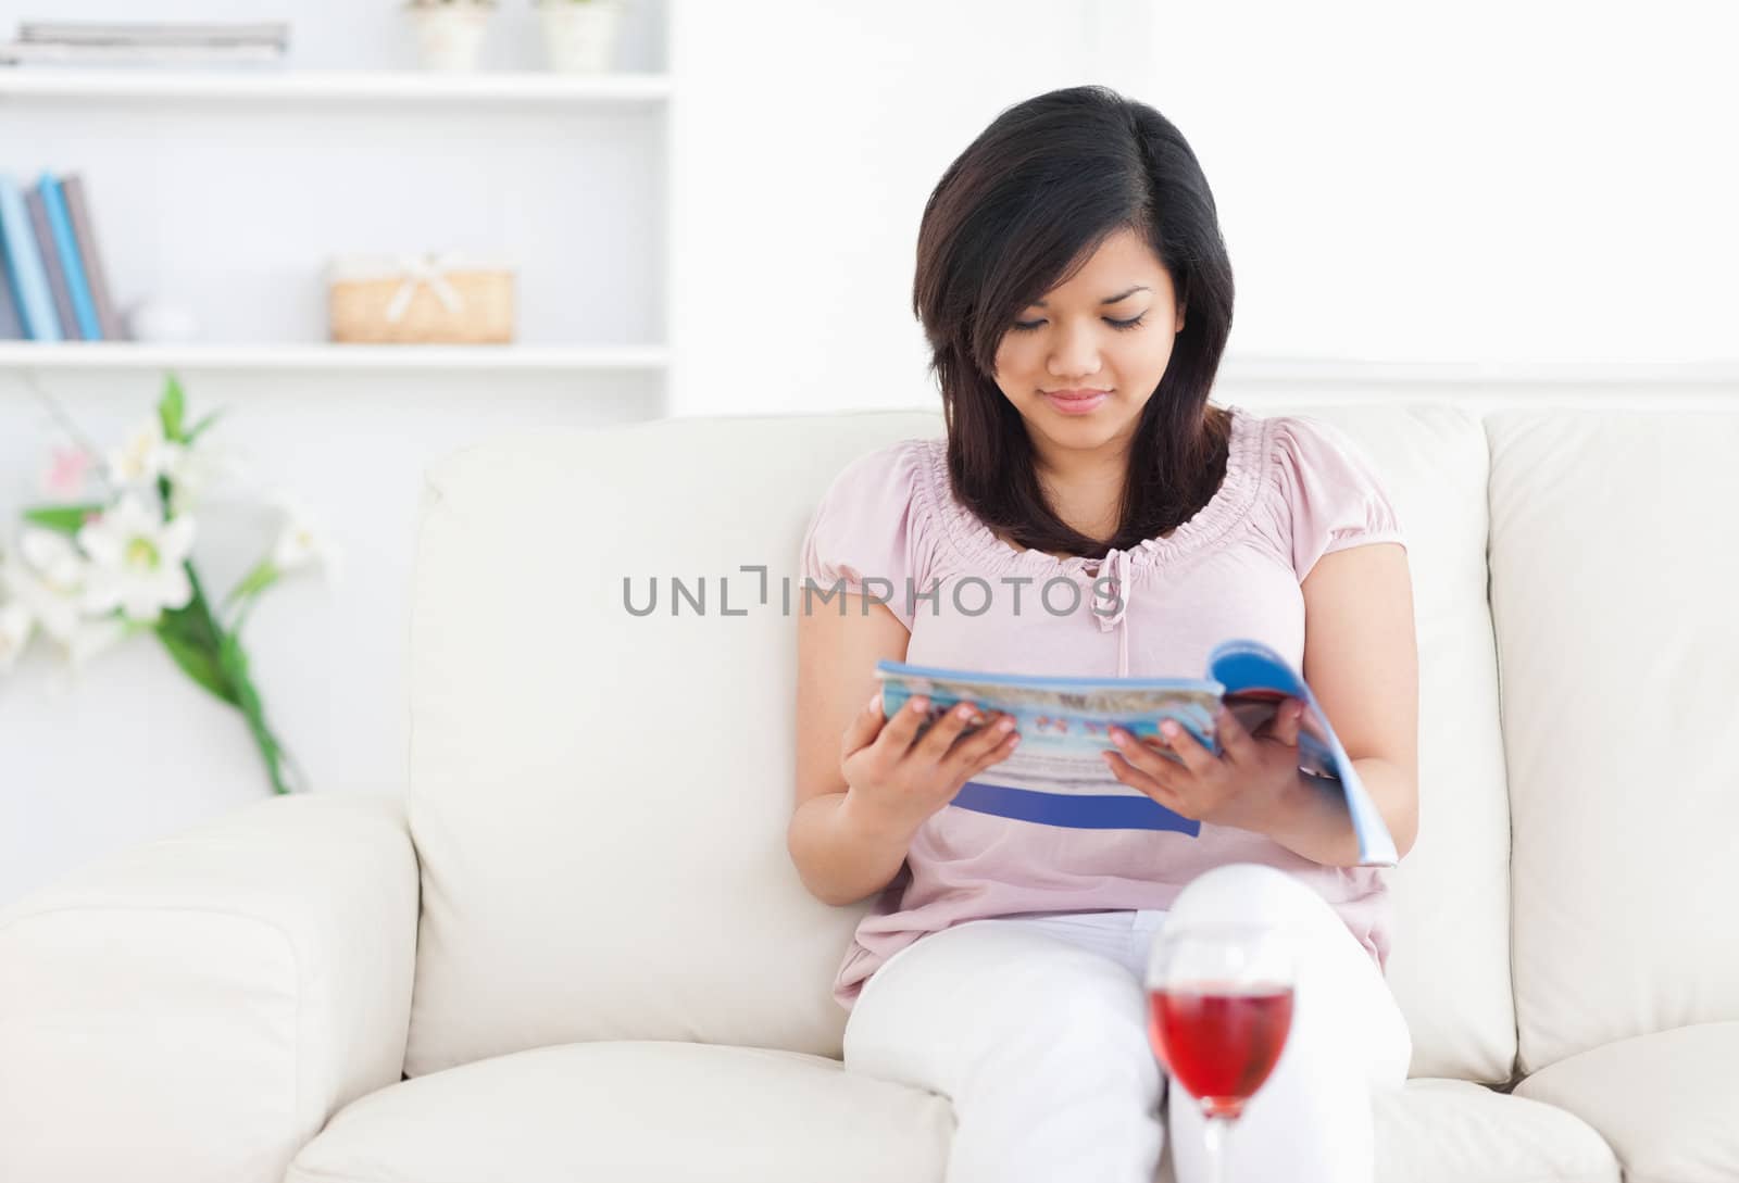
[[[1376,1117],[1383,1183],[1619,1183],[1612,1152],[1577,1117],[1478,1084],[1409,1081]],[[363,1096],[285,1183],[939,1183],[953,1127],[946,1098],[823,1056],[563,1044]]]

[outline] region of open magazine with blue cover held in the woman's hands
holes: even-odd
[[[1353,761],[1329,724],[1304,679],[1280,653],[1261,641],[1224,641],[1209,653],[1205,677],[1036,677],[983,671],[939,669],[906,662],[876,662],[882,709],[887,717],[908,698],[930,700],[918,733],[960,702],[981,714],[963,733],[976,731],[989,714],[1010,714],[1021,745],[1003,761],[969,780],[955,806],[977,813],[1073,829],[1174,830],[1195,837],[1202,823],[1186,818],[1111,775],[1099,752],[1116,750],[1108,724],[1116,724],[1165,759],[1183,759],[1160,745],[1160,723],[1174,719],[1214,756],[1219,742],[1214,714],[1231,710],[1243,730],[1256,733],[1287,698],[1304,702],[1299,719],[1299,771],[1348,813],[1358,837],[1360,867],[1400,862],[1383,813],[1365,790]]]

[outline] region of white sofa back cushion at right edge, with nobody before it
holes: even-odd
[[[1502,410],[1520,1067],[1739,1020],[1739,413]]]

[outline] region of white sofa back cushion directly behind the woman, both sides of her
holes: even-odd
[[[1414,1074],[1501,1081],[1515,1020],[1485,438],[1447,406],[1309,413],[1372,457],[1410,540],[1424,820],[1391,876],[1389,980]],[[430,471],[412,1075],[595,1039],[840,1054],[830,987],[870,903],[814,900],[784,846],[784,589],[800,603],[798,544],[833,476],[941,431],[930,412],[676,419],[497,438]],[[746,566],[767,568],[765,601]],[[656,611],[633,615],[624,580],[635,608],[656,587]]]

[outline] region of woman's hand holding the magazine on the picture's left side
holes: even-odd
[[[960,738],[967,723],[983,714],[970,702],[956,704],[915,742],[929,709],[930,700],[920,695],[887,719],[876,691],[842,737],[845,806],[880,832],[915,834],[962,785],[1000,764],[1021,742],[1014,717],[1000,712]]]

